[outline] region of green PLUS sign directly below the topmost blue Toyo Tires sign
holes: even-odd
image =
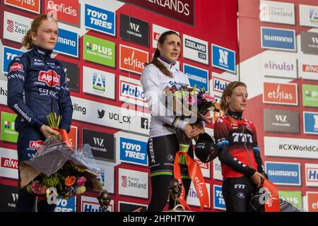
[[[83,58],[105,66],[114,67],[115,44],[107,40],[90,35],[84,35]]]

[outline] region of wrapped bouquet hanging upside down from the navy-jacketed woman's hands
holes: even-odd
[[[47,119],[52,129],[61,131],[58,129],[60,116],[50,113]],[[100,169],[94,162],[90,146],[75,149],[66,131],[60,134],[49,136],[30,160],[20,162],[21,186],[48,202],[52,191],[56,197],[63,198],[78,196],[85,191],[101,191],[102,186],[96,178]]]

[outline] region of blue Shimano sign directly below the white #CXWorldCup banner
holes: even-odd
[[[292,162],[265,162],[269,181],[278,185],[300,186],[300,164]]]

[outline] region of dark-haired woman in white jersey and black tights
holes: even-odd
[[[160,35],[153,61],[141,74],[141,85],[151,111],[147,153],[151,170],[152,196],[148,211],[162,211],[167,203],[175,154],[179,150],[174,127],[182,129],[188,138],[196,138],[200,133],[204,133],[203,124],[188,124],[187,121],[175,117],[173,112],[160,101],[167,86],[189,85],[189,78],[175,67],[181,43],[179,35],[171,30]],[[189,148],[189,156],[193,157],[192,147]],[[187,197],[191,183],[187,166],[181,166],[181,173]],[[170,208],[173,207],[172,198],[169,203]]]

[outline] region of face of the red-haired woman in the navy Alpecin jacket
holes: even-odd
[[[43,20],[37,32],[32,32],[33,44],[43,49],[53,50],[57,44],[59,29],[54,20]]]

